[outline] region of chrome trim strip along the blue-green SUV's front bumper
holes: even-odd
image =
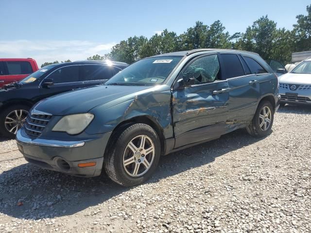
[[[26,143],[30,145],[43,146],[43,147],[65,147],[65,148],[75,148],[83,147],[84,141],[58,141],[58,140],[47,140],[35,138],[34,140],[24,137],[21,135],[20,130],[16,133],[17,142]]]

